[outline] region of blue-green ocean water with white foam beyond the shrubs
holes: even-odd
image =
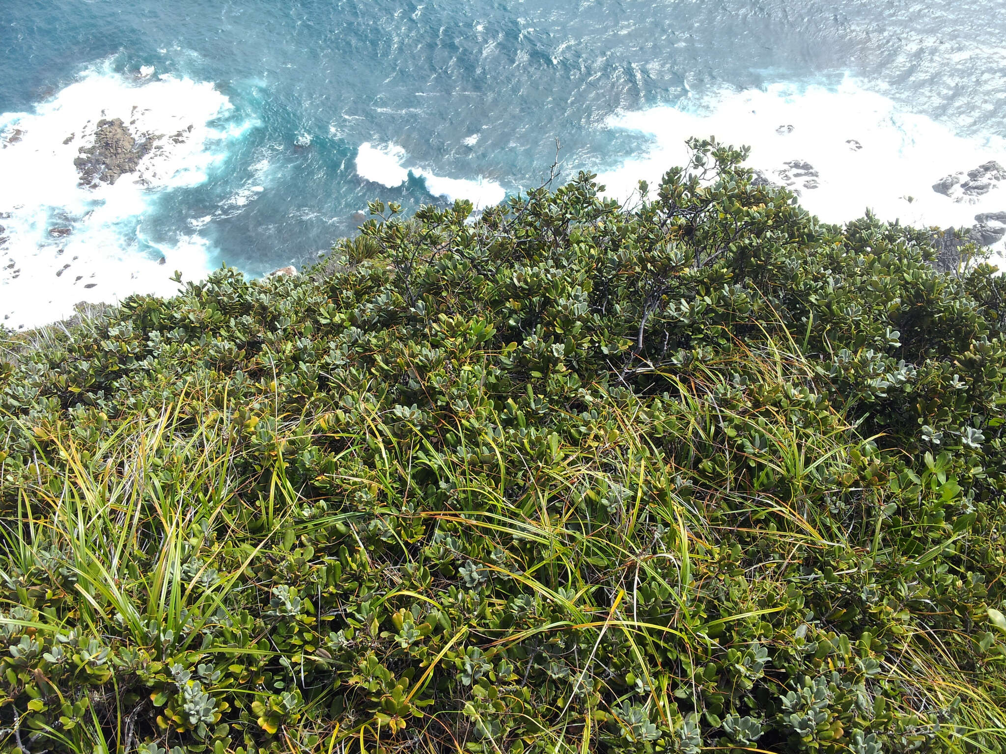
[[[305,264],[368,199],[485,206],[537,185],[556,143],[565,175],[592,170],[626,199],[682,163],[685,138],[714,135],[828,221],[869,207],[971,225],[1006,212],[1006,180],[932,186],[1006,165],[1004,11],[0,0],[0,321],[167,295],[174,270]],[[103,118],[160,138],[135,174],[92,189],[73,159]]]

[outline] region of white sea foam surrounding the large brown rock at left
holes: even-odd
[[[143,220],[165,191],[206,180],[224,143],[243,128],[213,125],[230,109],[211,83],[167,75],[137,80],[105,64],[34,113],[0,115],[0,321],[32,327],[68,316],[81,301],[171,295],[175,269],[189,279],[205,276],[214,265],[204,239],[179,234],[155,242]],[[78,185],[73,160],[94,144],[103,118],[161,138],[135,173],[88,188]],[[205,222],[191,225],[198,230]]]

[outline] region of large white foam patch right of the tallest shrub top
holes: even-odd
[[[951,196],[933,190],[948,175],[962,174],[966,181],[967,171],[990,160],[1006,165],[1006,141],[959,137],[851,77],[832,88],[778,83],[688,99],[679,107],[619,114],[609,126],[653,137],[646,154],[599,175],[607,193],[622,199],[632,196],[640,179],[655,185],[668,168],[684,165],[685,139],[715,135],[750,146],[749,167],[799,191],[801,204],[828,222],[851,220],[870,208],[884,220],[960,227],[975,224],[976,214],[1006,211],[1006,180],[992,181],[977,197],[964,196],[959,187]],[[809,163],[818,175],[787,165],[794,161]],[[994,250],[1001,254],[1003,244]]]

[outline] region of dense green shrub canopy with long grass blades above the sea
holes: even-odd
[[[691,146],[8,336],[3,746],[1001,750],[1003,284]]]

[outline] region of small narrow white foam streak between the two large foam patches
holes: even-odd
[[[506,198],[506,189],[496,181],[482,178],[447,178],[418,167],[405,167],[405,150],[396,144],[374,146],[370,142],[360,145],[356,152],[356,173],[367,181],[387,188],[400,186],[412,174],[422,178],[427,191],[450,201],[468,199],[475,207],[490,207]]]

